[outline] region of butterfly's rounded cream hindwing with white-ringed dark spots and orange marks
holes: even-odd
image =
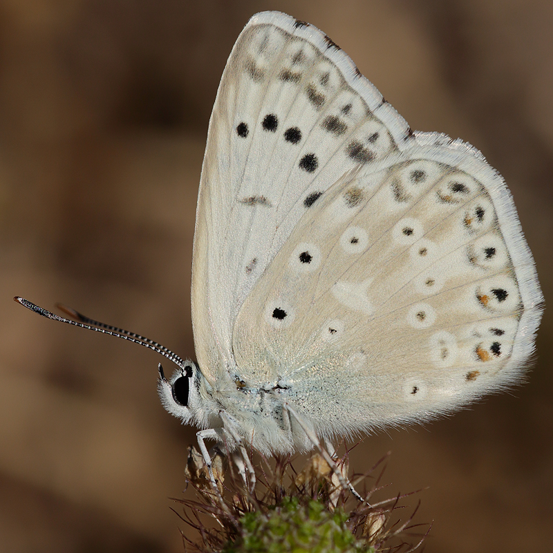
[[[469,147],[413,147],[344,176],[243,304],[238,365],[252,386],[290,384],[326,435],[424,420],[512,384],[539,310],[509,202]]]

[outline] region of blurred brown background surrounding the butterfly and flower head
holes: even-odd
[[[194,429],[158,401],[158,356],[12,296],[64,301],[194,355],[207,122],[234,40],[267,9],[328,33],[413,128],[485,153],[551,296],[550,1],[1,0],[2,552],[182,551],[169,497]],[[546,314],[536,367],[512,394],[353,452],[362,471],[392,451],[391,494],[429,486],[425,551],[549,549],[552,340]]]

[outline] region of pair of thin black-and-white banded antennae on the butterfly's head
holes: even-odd
[[[161,355],[163,355],[163,357],[167,357],[169,361],[174,362],[174,364],[176,364],[178,367],[180,368],[185,367],[185,362],[178,355],[176,355],[176,353],[172,352],[165,346],[158,344],[158,342],[156,341],[153,341],[149,338],[141,336],[140,334],[135,334],[135,332],[129,332],[129,330],[124,330],[124,328],[118,328],[116,326],[111,326],[109,324],[101,323],[100,321],[95,321],[94,319],[85,317],[84,315],[82,315],[78,311],[75,311],[74,309],[68,308],[66,306],[62,306],[59,303],[57,304],[57,307],[59,309],[64,311],[70,317],[77,319],[77,321],[79,322],[72,321],[71,319],[66,319],[65,317],[59,317],[59,315],[55,315],[55,313],[52,313],[44,308],[41,308],[40,306],[37,306],[35,303],[32,303],[32,301],[21,298],[19,296],[16,296],[14,298],[14,301],[17,301],[17,303],[21,303],[22,306],[26,307],[27,309],[30,309],[31,311],[34,311],[35,313],[38,313],[39,315],[42,315],[42,317],[46,317],[47,319],[52,319],[53,321],[59,321],[60,323],[72,324],[73,326],[79,326],[81,328],[86,328],[88,330],[95,330],[95,332],[102,332],[102,334],[107,334],[110,336],[122,338],[124,340],[132,341],[134,344],[140,344],[140,346],[149,348],[153,351],[156,351],[157,353],[160,353]]]

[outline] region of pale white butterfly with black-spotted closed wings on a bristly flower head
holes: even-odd
[[[161,348],[180,365],[161,373],[162,402],[203,429],[205,456],[204,438],[306,450],[514,384],[541,302],[512,198],[478,150],[411,131],[317,28],[250,19],[209,122],[198,365]]]

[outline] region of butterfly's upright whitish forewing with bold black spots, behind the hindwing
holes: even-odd
[[[252,18],[221,80],[198,199],[193,316],[206,373],[232,364],[236,313],[306,209],[345,171],[409,138],[319,30],[281,14]]]

